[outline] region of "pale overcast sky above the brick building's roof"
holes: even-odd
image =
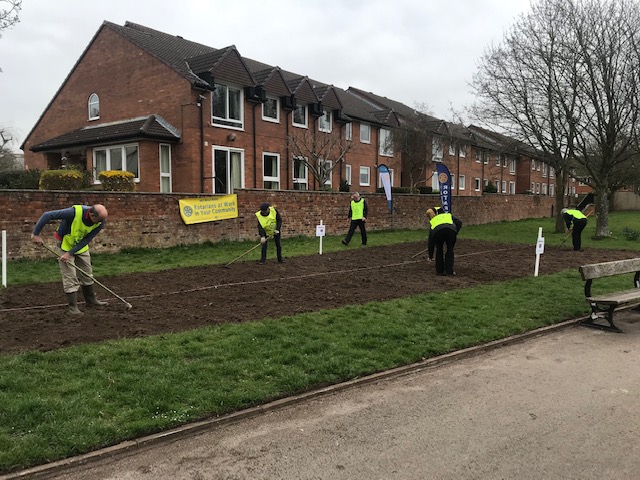
[[[5,3],[0,0],[0,7]],[[25,140],[103,21],[139,23],[454,120],[529,0],[23,0],[0,38],[0,127]]]

